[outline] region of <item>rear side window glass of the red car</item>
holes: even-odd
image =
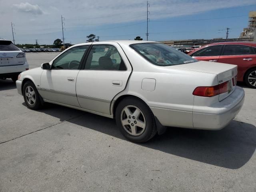
[[[222,55],[251,55],[252,47],[245,45],[225,45]]]

